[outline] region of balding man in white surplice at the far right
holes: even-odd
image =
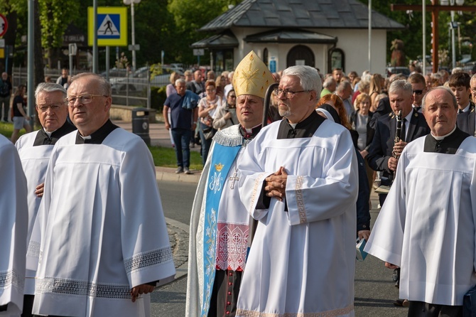
[[[401,267],[408,316],[463,316],[476,284],[476,139],[456,127],[448,88],[430,90],[422,108],[431,134],[402,151],[365,251]]]

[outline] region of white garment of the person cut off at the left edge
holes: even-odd
[[[15,146],[0,135],[0,316],[20,316],[25,284],[28,204]]]

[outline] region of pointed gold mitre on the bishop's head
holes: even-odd
[[[234,70],[233,88],[237,96],[255,95],[264,98],[266,90],[272,83],[274,83],[273,75],[252,50]]]

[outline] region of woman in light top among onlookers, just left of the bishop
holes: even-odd
[[[210,151],[210,145],[212,145],[212,137],[217,131],[213,128],[213,119],[217,110],[222,106],[222,98],[217,96],[216,89],[215,80],[207,80],[207,82],[205,82],[207,96],[198,102],[203,165],[205,165],[205,161],[207,161],[208,151]]]

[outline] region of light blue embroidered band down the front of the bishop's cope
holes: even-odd
[[[210,171],[208,172],[207,196],[205,200],[205,223],[203,230],[203,303],[201,316],[207,317],[212,297],[216,267],[216,240],[218,206],[222,188],[227,181],[229,168],[232,166],[242,145],[223,146],[215,142]]]

